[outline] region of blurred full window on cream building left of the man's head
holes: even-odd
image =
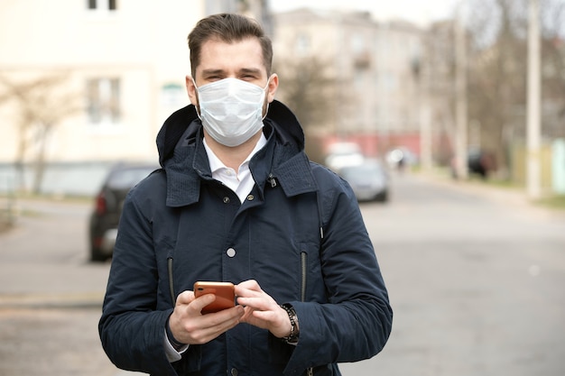
[[[112,126],[120,123],[120,81],[117,78],[87,80],[88,123]]]

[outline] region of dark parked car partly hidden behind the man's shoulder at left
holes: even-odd
[[[111,168],[95,198],[89,220],[91,261],[106,261],[112,257],[117,225],[122,215],[125,196],[131,188],[158,166],[151,163],[119,163]]]

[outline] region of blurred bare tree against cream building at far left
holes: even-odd
[[[23,188],[23,166],[34,151],[32,191],[39,193],[45,171],[46,145],[64,119],[82,110],[80,96],[64,87],[68,75],[30,78],[25,81],[0,76],[0,104],[12,102],[16,111],[18,146],[14,159],[18,186]]]

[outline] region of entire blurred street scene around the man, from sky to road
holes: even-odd
[[[118,374],[120,204],[220,12],[272,37],[277,99],[389,277],[390,350],[344,374],[565,374],[565,0],[0,0],[0,374]]]

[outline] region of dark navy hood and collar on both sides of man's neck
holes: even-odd
[[[273,101],[264,125],[267,144],[249,163],[261,199],[265,187],[273,184],[280,185],[287,197],[315,191],[317,185],[304,153],[304,133],[296,117],[285,105]],[[157,148],[167,173],[167,206],[198,202],[200,182],[211,180],[212,174],[194,105],[181,108],[165,121],[157,135]]]

